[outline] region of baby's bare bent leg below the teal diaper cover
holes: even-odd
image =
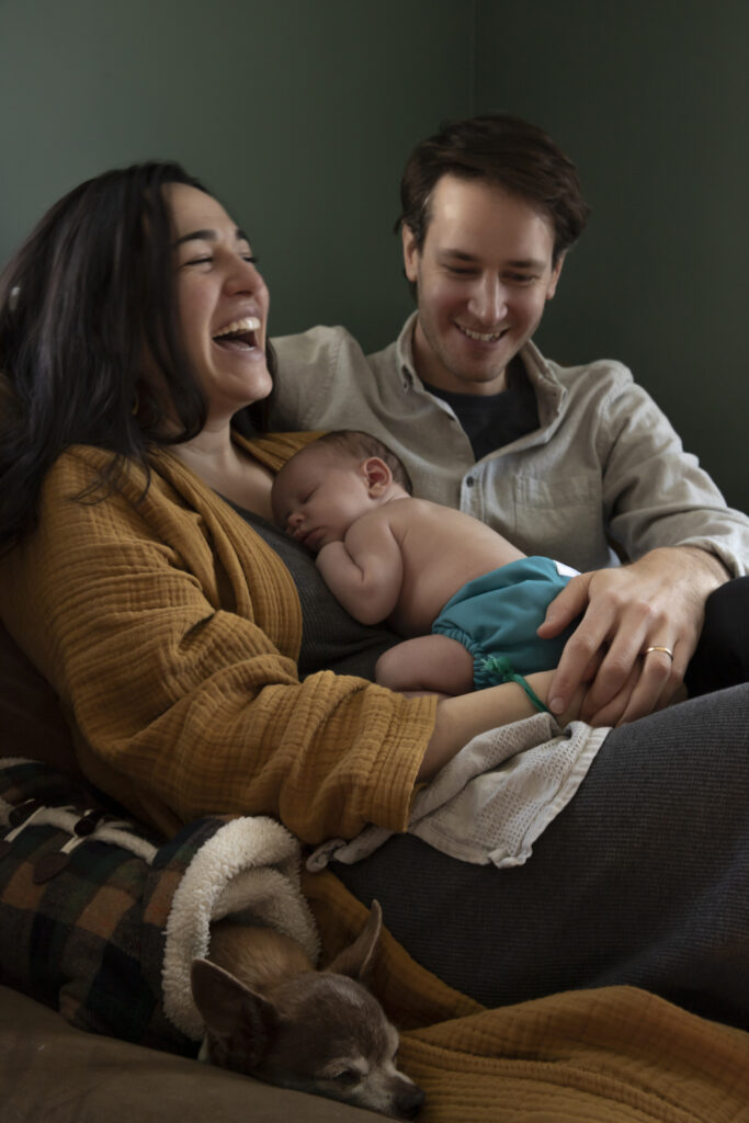
[[[468,694],[474,688],[474,660],[457,639],[417,636],[380,656],[375,678],[392,691]]]

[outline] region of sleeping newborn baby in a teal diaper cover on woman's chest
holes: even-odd
[[[317,554],[344,608],[365,624],[386,621],[404,637],[377,661],[396,691],[463,694],[556,667],[573,631],[536,634],[576,570],[527,557],[483,522],[411,495],[400,459],[353,430],[296,453],[273,485],[278,524]]]

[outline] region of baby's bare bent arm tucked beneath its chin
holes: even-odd
[[[363,624],[386,620],[398,604],[403,558],[387,519],[357,519],[342,541],[321,548],[317,566],[330,592]]]

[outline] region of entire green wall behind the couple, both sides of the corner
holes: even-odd
[[[249,230],[273,331],[377,347],[410,148],[521,113],[594,207],[539,341],[629,363],[746,510],[747,42],[746,0],[0,0],[0,261],[85,176],[176,158]]]

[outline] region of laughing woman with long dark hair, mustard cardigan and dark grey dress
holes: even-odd
[[[247,236],[176,165],[44,217],[0,286],[0,614],[84,774],[161,832],[231,812],[305,843],[402,832],[417,785],[533,707],[514,683],[372,683],[396,637],[348,618],[271,521],[308,438],[263,432],[267,323]],[[550,674],[529,678],[544,696]],[[400,833],[334,868],[486,1004],[631,983],[749,1025],[748,691],[611,732],[519,869]]]

